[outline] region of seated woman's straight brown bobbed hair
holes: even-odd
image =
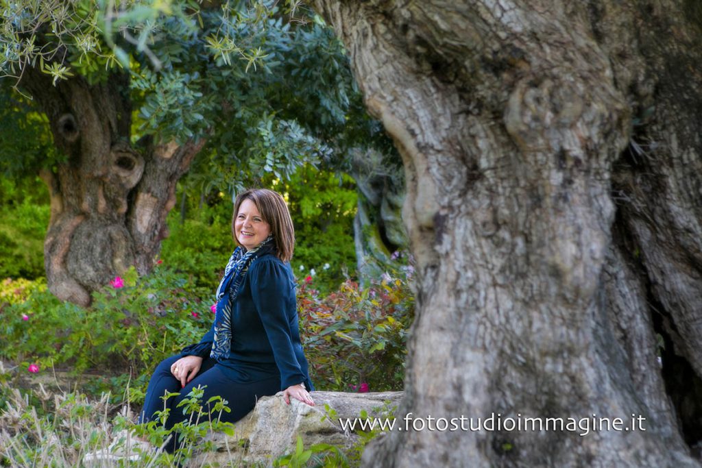
[[[258,213],[270,225],[270,232],[273,234],[273,241],[277,248],[277,257],[284,262],[289,262],[293,258],[293,250],[295,249],[295,228],[293,220],[290,218],[288,206],[281,194],[269,189],[248,189],[237,195],[232,214],[232,236],[237,244],[239,241],[237,235],[234,234],[234,222],[237,220],[239,206],[244,200],[251,200],[256,205]]]

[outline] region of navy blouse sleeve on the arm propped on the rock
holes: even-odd
[[[298,385],[307,380],[295,354],[291,318],[296,312],[294,284],[285,266],[276,261],[255,262],[251,265],[251,295],[260,316],[275,363],[280,370],[281,388]],[[293,307],[293,311],[289,308]],[[298,326],[297,323],[294,324]],[[299,343],[298,343],[298,346]]]

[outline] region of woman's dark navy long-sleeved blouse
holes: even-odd
[[[214,323],[197,345],[182,356],[208,358]],[[307,359],[300,342],[295,281],[289,263],[275,255],[251,262],[232,306],[232,349],[218,361],[227,377],[239,383],[280,375],[280,388],[302,382],[312,391]]]

